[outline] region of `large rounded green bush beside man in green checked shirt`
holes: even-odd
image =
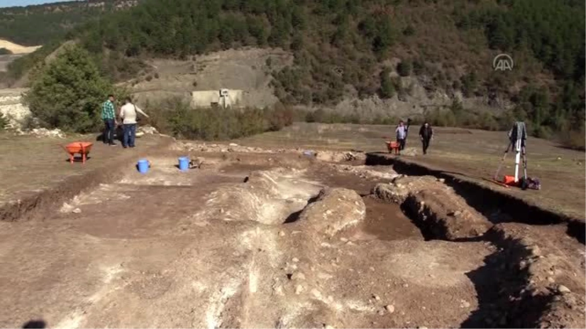
[[[100,129],[101,104],[113,91],[86,50],[67,46],[39,71],[24,100],[42,126],[87,133]]]

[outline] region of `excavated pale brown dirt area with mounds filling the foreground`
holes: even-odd
[[[147,174],[0,222],[0,327],[586,327],[566,224],[363,153],[249,151],[176,143]]]

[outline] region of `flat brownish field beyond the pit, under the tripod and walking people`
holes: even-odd
[[[527,174],[539,178],[542,190],[505,189],[486,179],[492,179],[502,159],[507,146],[506,132],[434,129],[435,138],[428,155],[423,156],[417,136],[419,127],[413,126],[407,140],[408,152],[404,152],[406,154],[401,158],[475,180],[490,189],[512,194],[557,213],[586,219],[586,153],[530,137],[527,140]],[[239,143],[267,148],[386,152],[381,136],[393,135],[390,126],[295,124],[283,131],[252,136]],[[514,174],[514,170],[514,154],[509,153],[500,174]]]

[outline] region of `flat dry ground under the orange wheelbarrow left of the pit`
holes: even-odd
[[[69,155],[63,149],[63,145],[75,141],[94,143],[85,165],[79,162],[70,164]],[[161,139],[146,136],[137,140],[137,148],[122,149],[121,146],[105,146],[96,141],[94,135],[60,139],[0,133],[0,219],[6,220],[11,215],[5,210],[9,205],[35,199],[43,191],[66,190],[71,188],[70,184],[85,184],[83,175],[104,165],[110,166],[110,172],[114,173],[119,161],[128,160],[128,157],[138,159],[145,150],[159,142]],[[67,179],[72,177],[80,177],[80,182],[68,182]],[[22,207],[27,206],[22,204]]]

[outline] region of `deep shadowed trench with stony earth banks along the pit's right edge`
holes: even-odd
[[[583,325],[585,309],[577,307],[584,305],[580,260],[584,246],[565,236],[581,241],[581,222],[413,163],[381,155],[370,155],[367,163],[390,164],[398,173],[417,175],[378,184],[373,194],[400,204],[427,241],[484,241],[495,247],[496,251],[485,258],[485,265],[466,273],[475,284],[479,306],[462,328]],[[502,211],[498,203],[517,211]],[[517,220],[519,210],[530,215]],[[555,275],[560,268],[573,277],[560,277],[558,281]],[[558,282],[572,285],[573,296]]]

